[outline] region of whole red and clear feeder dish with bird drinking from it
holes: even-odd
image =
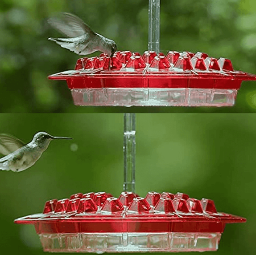
[[[242,81],[256,75],[206,53],[123,51],[80,58],[74,70],[49,79],[66,80],[75,105],[231,106]]]

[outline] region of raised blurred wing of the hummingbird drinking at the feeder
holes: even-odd
[[[58,17],[51,17],[48,23],[59,32],[68,37],[78,37],[86,34],[87,36],[95,35],[95,32],[74,14],[61,12]]]

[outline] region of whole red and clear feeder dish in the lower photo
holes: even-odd
[[[15,223],[34,224],[44,251],[102,253],[216,251],[226,223],[245,221],[182,193],[91,192],[47,201]]]

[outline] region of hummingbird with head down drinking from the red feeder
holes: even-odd
[[[116,52],[116,43],[98,33],[77,16],[61,12],[59,17],[48,19],[48,23],[59,32],[71,38],[49,38],[62,48],[69,49],[78,55],[88,55],[95,51],[101,51],[113,57]]]

